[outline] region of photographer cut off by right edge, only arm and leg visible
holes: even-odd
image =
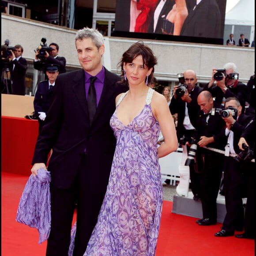
[[[241,138],[238,142],[238,147],[241,149],[241,152],[244,152],[243,143],[247,147],[250,147],[253,150],[255,149],[255,117],[250,121],[248,126],[245,128],[241,134]],[[255,159],[255,154],[253,154]],[[245,207],[245,232],[241,234],[236,234],[237,238],[248,238],[255,239],[256,229],[255,229],[255,162],[249,162],[248,169],[248,191],[247,191],[247,201]]]

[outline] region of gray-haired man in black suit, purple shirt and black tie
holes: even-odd
[[[31,172],[35,175],[39,168],[46,169],[49,151],[53,149],[48,166],[52,179],[48,256],[68,255],[76,203],[73,255],[81,256],[87,248],[105,195],[116,146],[110,117],[115,111],[115,98],[128,90],[117,83],[118,75],[102,65],[105,46],[98,30],[79,30],[75,46],[83,69],[57,76],[53,101],[32,161]],[[95,78],[94,83],[90,82]],[[96,99],[91,95],[93,91]],[[96,104],[96,112],[92,114]]]

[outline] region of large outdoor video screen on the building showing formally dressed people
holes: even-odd
[[[117,0],[113,36],[223,44],[226,0]]]

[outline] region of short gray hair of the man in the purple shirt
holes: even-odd
[[[76,32],[75,42],[85,38],[91,38],[98,49],[104,44],[102,34],[98,30],[94,30],[92,28],[84,27]]]

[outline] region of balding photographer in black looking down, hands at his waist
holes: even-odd
[[[226,135],[224,128],[226,124],[221,115],[215,112],[215,109],[220,110],[223,107],[214,102],[210,92],[200,92],[197,102],[201,111],[197,119],[194,140],[198,141],[196,162],[201,173],[200,192],[203,218],[197,220],[196,223],[200,226],[210,226],[217,222],[216,199],[222,177],[224,155],[204,147],[222,151],[225,149]]]

